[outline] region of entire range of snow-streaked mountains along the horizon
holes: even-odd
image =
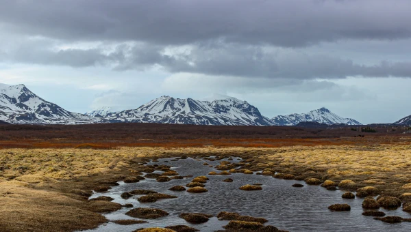
[[[66,111],[27,89],[25,85],[0,84],[0,121],[10,124],[96,124],[96,123],[161,123],[238,126],[295,126],[301,122],[360,125],[340,117],[327,108],[308,113],[265,117],[256,106],[229,96],[194,100],[162,96],[125,111],[110,107],[97,108],[85,114]],[[411,124],[411,115],[395,124]],[[300,124],[301,125],[301,124]]]

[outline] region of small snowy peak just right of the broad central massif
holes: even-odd
[[[291,115],[279,115],[273,117],[271,122],[276,126],[295,126],[303,121],[316,121],[321,124],[348,124],[361,125],[359,121],[350,118],[344,118],[332,113],[327,108],[319,108],[309,113],[293,113]]]

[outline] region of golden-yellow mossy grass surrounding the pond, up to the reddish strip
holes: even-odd
[[[400,146],[401,147],[401,146]],[[301,160],[291,160],[292,154],[306,153],[307,157],[311,152],[334,151],[345,152],[347,154],[360,151],[361,154],[369,155],[370,158],[378,151],[388,154],[388,149],[392,149],[393,160],[398,162],[398,170],[393,166],[388,170],[364,170],[361,174],[356,172],[347,172],[347,166],[337,167],[333,162],[338,164],[340,161],[329,160],[328,164],[322,162],[312,162],[304,164]],[[228,156],[238,156],[245,160],[242,164],[244,169],[251,171],[274,171],[281,173],[277,175],[279,178],[284,178],[285,175],[292,175],[294,179],[316,178],[322,182],[326,179],[332,180],[339,184],[345,179],[350,179],[353,184],[340,186],[340,189],[358,190],[358,188],[373,186],[377,188],[378,194],[391,197],[400,197],[404,193],[411,192],[404,187],[411,182],[409,172],[400,170],[407,169],[410,162],[408,160],[396,160],[395,158],[406,157],[406,152],[409,152],[409,147],[288,147],[281,149],[152,149],[152,148],[129,148],[117,149],[113,151],[99,150],[81,150],[81,149],[47,149],[43,151],[44,160],[62,160],[62,156],[71,154],[69,159],[77,160],[79,156],[84,156],[82,162],[72,162],[73,171],[67,171],[68,166],[60,167],[60,171],[53,172],[53,169],[48,166],[45,170],[42,169],[42,164],[47,164],[43,161],[33,166],[27,165],[27,160],[38,154],[38,150],[23,150],[10,149],[3,150],[1,158],[1,179],[0,179],[0,225],[5,228],[5,231],[76,231],[82,229],[92,229],[107,220],[101,213],[112,212],[123,207],[117,203],[110,201],[88,201],[88,197],[92,190],[98,188],[110,188],[115,186],[116,182],[122,181],[127,177],[140,175],[147,168],[144,166],[146,162],[156,158],[173,158],[181,156],[189,157],[206,157],[220,156],[225,158]],[[13,154],[7,154],[12,152]],[[365,153],[364,153],[365,152]],[[100,164],[95,164],[96,169],[90,171],[90,160],[95,158],[105,157],[104,162],[100,160]],[[11,160],[11,157],[16,155],[21,158]],[[331,155],[331,154],[330,154]],[[338,157],[336,154],[334,156]],[[365,155],[364,155],[365,156]],[[315,157],[314,157],[315,158]],[[364,160],[365,158],[362,158]],[[381,157],[382,160],[386,160]],[[391,159],[391,158],[390,158]],[[382,163],[382,166],[394,165]],[[38,160],[40,161],[40,160]],[[292,162],[294,161],[294,162]],[[323,160],[324,161],[324,160]],[[325,159],[327,161],[327,159]],[[344,160],[343,160],[344,161]],[[375,160],[378,163],[379,160]],[[390,162],[391,162],[390,161]],[[12,162],[10,164],[10,162]],[[54,161],[53,161],[54,162]],[[61,161],[62,163],[64,160]],[[78,165],[86,166],[84,172],[76,173]],[[61,164],[60,164],[61,165]],[[43,165],[44,166],[44,165]],[[26,170],[25,170],[26,169]],[[41,169],[42,171],[38,171]],[[84,169],[84,167],[83,167]],[[225,167],[221,167],[221,170]],[[362,167],[364,169],[364,166]],[[228,169],[227,169],[228,170]],[[50,174],[51,173],[51,174]],[[403,198],[403,202],[408,201],[408,198]],[[40,209],[40,210],[39,210]],[[401,210],[401,209],[398,209]],[[18,223],[15,223],[18,221]]]

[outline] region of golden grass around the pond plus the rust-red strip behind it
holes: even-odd
[[[27,143],[29,148],[0,149],[3,231],[95,228],[106,221],[99,213],[112,212],[122,205],[88,201],[93,189],[110,188],[116,181],[141,175],[149,159],[178,156],[240,156],[246,160],[243,168],[251,171],[331,180],[353,191],[373,186],[379,194],[411,201],[411,137],[402,134],[316,139],[155,139],[133,145],[128,141],[88,142],[78,140],[64,148],[67,146],[60,146],[60,142],[42,138]],[[8,144],[6,147],[13,143],[22,141],[0,141]],[[40,143],[47,143],[47,148],[35,148],[34,144]]]

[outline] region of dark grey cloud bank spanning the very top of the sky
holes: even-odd
[[[409,0],[2,1],[9,31],[71,41],[308,46],[345,39],[410,38]]]

